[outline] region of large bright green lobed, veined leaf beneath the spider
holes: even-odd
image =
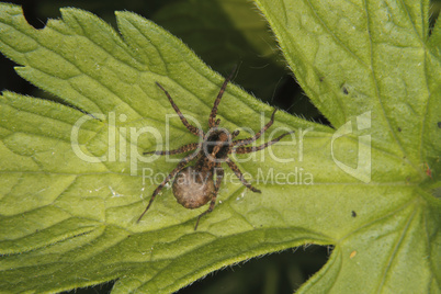
[[[183,208],[171,189],[136,223],[155,176],[177,165],[142,154],[195,142],[179,118],[166,126],[173,111],[156,81],[206,129],[224,78],[134,13],[116,13],[118,35],[77,9],[35,30],[19,7],[0,4],[1,52],[67,104],[0,99],[2,291],[118,279],[114,293],[170,293],[227,264],[312,242],[335,250],[303,292],[439,291],[440,29],[428,37],[427,2],[257,3],[336,129],[276,113],[271,129],[295,137],[252,160],[238,156],[262,194],[226,181],[196,231],[206,207]],[[272,112],[234,84],[218,110],[231,131],[260,129]]]

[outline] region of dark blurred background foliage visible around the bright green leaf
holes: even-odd
[[[23,0],[27,21],[44,27],[59,8],[93,12],[116,27],[114,11],[127,10],[150,19],[180,37],[208,66],[227,76],[235,65],[234,82],[256,98],[306,120],[328,124],[295,82],[263,16],[249,0]],[[441,0],[431,2],[431,25]],[[0,90],[56,99],[20,78],[14,64],[0,57]],[[309,246],[255,258],[208,274],[179,294],[293,293],[327,261],[329,248]],[[68,293],[109,293],[113,282]]]

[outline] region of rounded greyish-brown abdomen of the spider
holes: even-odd
[[[179,204],[190,210],[199,208],[213,196],[213,173],[186,167],[176,176],[172,190]]]

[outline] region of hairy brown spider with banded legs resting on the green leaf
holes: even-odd
[[[144,155],[177,155],[196,150],[196,152],[192,152],[191,155],[182,158],[178,166],[170,172],[170,174],[158,185],[158,188],[156,188],[146,210],[139,216],[137,222],[139,222],[143,218],[144,214],[148,211],[148,208],[150,208],[150,205],[154,202],[156,195],[158,195],[162,188],[173,177],[176,177],[172,185],[172,191],[177,201],[185,208],[199,208],[202,205],[205,205],[211,200],[208,210],[200,214],[197,217],[196,225],[194,226],[194,230],[196,230],[201,217],[212,212],[214,205],[216,204],[217,192],[219,191],[220,182],[224,178],[224,169],[220,166],[222,162],[226,162],[228,165],[228,167],[235,172],[237,178],[239,178],[245,186],[250,189],[252,192],[261,193],[260,190],[253,188],[250,183],[247,182],[247,180],[245,180],[244,174],[236,166],[236,163],[228,157],[228,155],[249,154],[262,150],[268,146],[279,142],[284,136],[294,133],[294,131],[285,133],[278,138],[267,142],[265,144],[260,146],[244,147],[244,145],[249,145],[260,138],[262,133],[264,133],[273,124],[274,114],[276,111],[275,109],[271,115],[270,122],[268,122],[267,125],[259,131],[259,133],[249,138],[233,140],[237,135],[239,135],[238,129],[230,134],[227,129],[218,127],[220,120],[216,120],[217,106],[219,105],[222,95],[224,94],[225,88],[227,87],[228,81],[231,79],[233,74],[234,71],[229,75],[228,78],[225,79],[220,91],[217,94],[216,100],[214,101],[212,113],[210,114],[208,118],[210,129],[207,133],[204,133],[202,129],[199,129],[197,127],[191,125],[183,116],[177,104],[174,104],[167,90],[163,89],[159,82],[156,82],[156,84],[166,93],[171,103],[171,106],[178,113],[184,126],[193,135],[199,136],[202,142],[186,144],[174,150],[144,152]],[[196,163],[194,166],[189,166],[185,168],[185,166],[193,159],[196,159]],[[216,176],[215,183],[213,180],[214,174]]]

